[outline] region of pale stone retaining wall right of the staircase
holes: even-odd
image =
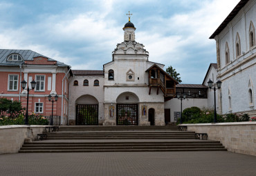
[[[256,156],[256,122],[221,124],[182,124],[188,131],[207,133],[208,139],[220,141],[228,151]]]

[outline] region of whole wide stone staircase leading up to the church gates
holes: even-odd
[[[223,151],[219,141],[195,139],[176,126],[60,126],[43,141],[25,142],[19,153]]]

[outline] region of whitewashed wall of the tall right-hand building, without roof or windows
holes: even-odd
[[[219,41],[221,67],[218,77],[222,81],[219,91],[221,113],[248,113],[256,115],[256,46],[249,46],[250,21],[256,26],[256,1],[250,0],[215,40]],[[256,32],[256,31],[255,31]],[[241,55],[236,56],[235,42],[237,33],[240,37]],[[228,42],[230,63],[226,64],[225,48]],[[249,86],[249,80],[251,86]],[[253,90],[253,104],[249,103],[248,90]],[[228,97],[231,97],[231,107]]]

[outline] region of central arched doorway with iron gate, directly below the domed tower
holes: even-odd
[[[138,126],[138,96],[133,92],[123,92],[116,99],[116,125]]]

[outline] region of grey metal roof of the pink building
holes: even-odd
[[[7,57],[11,54],[19,54],[24,59],[24,61],[33,61],[34,57],[46,57],[33,50],[6,50],[0,49],[0,66],[19,66],[21,61],[7,61]],[[48,61],[56,61],[50,57],[46,57]],[[57,66],[68,66],[65,63],[57,61]]]

